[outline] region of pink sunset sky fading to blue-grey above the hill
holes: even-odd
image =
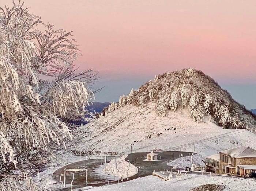
[[[11,5],[11,0],[4,0]],[[1,5],[3,1],[1,1]],[[25,0],[74,30],[80,69],[99,71],[97,101],[117,101],[159,73],[194,67],[256,108],[255,0]]]

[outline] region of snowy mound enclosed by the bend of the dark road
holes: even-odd
[[[134,165],[130,164],[129,162],[125,161],[124,159],[127,157],[122,156],[118,159],[112,159],[106,167],[103,169],[102,172],[106,174],[110,174],[112,176],[116,176],[118,178],[128,178],[130,176],[136,175],[138,173],[138,168]],[[116,171],[115,171],[116,167]]]

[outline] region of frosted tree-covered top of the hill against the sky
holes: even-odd
[[[233,100],[214,79],[191,68],[157,75],[138,90],[132,89],[128,95],[120,96],[119,102],[105,108],[102,116],[125,105],[144,108],[150,102],[155,104],[155,112],[160,117],[186,108],[188,116],[195,122],[202,122],[204,116],[211,116],[223,128],[246,128],[256,132],[255,116]]]

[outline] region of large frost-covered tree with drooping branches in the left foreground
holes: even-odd
[[[97,74],[76,73],[78,51],[72,32],[43,24],[24,3],[0,8],[1,175],[47,163],[72,139],[65,121],[89,114]]]

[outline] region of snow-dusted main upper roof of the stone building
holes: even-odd
[[[228,155],[234,158],[250,158],[250,157],[256,157],[256,150],[247,147],[247,146],[240,146],[233,149],[228,149],[222,152],[219,152],[220,154]]]

